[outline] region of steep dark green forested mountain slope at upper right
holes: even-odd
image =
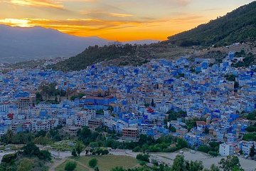
[[[170,36],[165,43],[177,46],[225,46],[256,40],[256,1],[190,31]]]

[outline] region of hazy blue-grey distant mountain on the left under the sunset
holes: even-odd
[[[107,43],[102,38],[70,36],[51,28],[0,25],[1,63],[75,56],[88,46]]]

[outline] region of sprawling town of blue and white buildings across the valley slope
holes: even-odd
[[[137,142],[139,135],[154,140],[171,135],[210,155],[248,157],[256,150],[256,71],[255,66],[240,67],[241,53],[230,52],[222,61],[183,56],[142,66],[96,63],[68,73],[2,73],[0,135],[58,125],[76,135],[85,126],[104,126],[123,142]],[[215,151],[207,149],[209,142],[218,142]]]

